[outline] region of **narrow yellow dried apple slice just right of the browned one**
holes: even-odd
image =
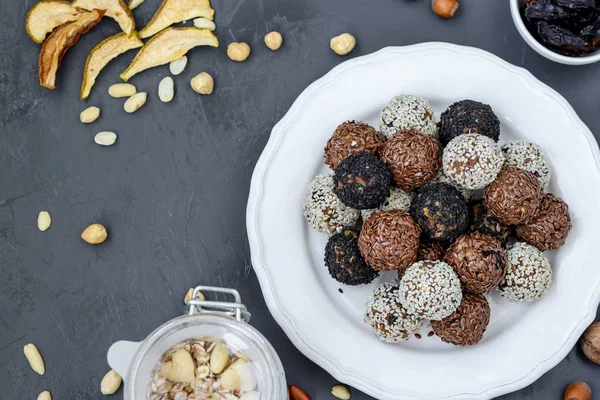
[[[142,47],[144,42],[137,34],[127,36],[125,32],[117,33],[101,41],[90,51],[85,67],[83,69],[83,81],[81,82],[81,100],[87,99],[96,83],[96,78],[102,68],[126,51]]]

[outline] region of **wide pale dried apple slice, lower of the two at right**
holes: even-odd
[[[208,29],[167,28],[148,40],[121,74],[125,82],[148,68],[168,64],[196,46],[219,47],[219,39]]]

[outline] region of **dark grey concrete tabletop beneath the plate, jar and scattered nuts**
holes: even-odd
[[[213,0],[221,48],[189,54],[170,104],[156,94],[167,67],[133,78],[149,100],[132,115],[107,88],[119,81],[134,51],[108,65],[88,101],[78,98],[88,52],[118,31],[108,19],[66,55],[56,90],[38,85],[39,46],[24,30],[33,3],[0,0],[3,400],[34,399],[45,389],[56,400],[101,398],[110,344],[141,340],[178,316],[187,289],[199,283],[239,289],[253,325],[279,352],[289,383],[313,399],[330,399],[334,379],[292,346],[265,306],[250,266],[245,207],[253,167],[273,125],[307,85],[345,59],[425,41],[483,48],[558,90],[600,134],[600,64],[567,67],[538,56],[514,28],[507,1],[462,0],[457,16],[446,21],[432,13],[429,0]],[[158,4],[147,0],[135,11],[138,25]],[[269,30],[284,35],[278,52],[263,45]],[[340,58],[329,39],[346,31],[358,45]],[[252,45],[248,61],[226,57],[234,39]],[[216,90],[201,97],[189,80],[204,70],[215,77]],[[440,74],[449,72],[440,65]],[[101,117],[82,125],[79,113],[89,105],[99,106]],[[101,130],[115,131],[117,144],[95,145]],[[41,210],[53,217],[45,233],[36,227]],[[79,239],[94,222],[110,231],[97,247]],[[23,357],[28,342],[44,356],[44,377]],[[600,366],[578,348],[530,387],[502,398],[559,399],[577,379],[600,394]],[[352,398],[369,397],[354,391]]]

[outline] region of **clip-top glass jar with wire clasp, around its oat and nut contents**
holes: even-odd
[[[228,294],[235,302],[201,300],[199,292]],[[281,360],[267,339],[248,324],[250,313],[236,290],[198,286],[187,304],[188,315],[163,324],[142,342],[120,341],[108,350],[108,364],[123,377],[125,400],[148,400],[163,354],[181,342],[202,338],[223,341],[252,362],[261,400],[288,398]]]

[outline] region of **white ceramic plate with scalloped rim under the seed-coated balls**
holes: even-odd
[[[552,164],[549,190],[567,201],[573,229],[548,253],[554,282],[531,305],[489,296],[484,340],[461,348],[437,337],[380,342],[362,322],[371,291],[327,273],[327,238],[302,215],[308,183],[327,170],[323,147],[346,120],[376,126],[397,94],[430,100],[437,116],[461,99],[492,106],[503,141],[539,143]],[[520,389],[556,365],[593,320],[600,301],[596,260],[600,152],[571,106],[521,68],[481,50],[442,43],[386,48],[334,68],[309,86],[275,126],[252,178],[247,224],[266,302],[292,342],[336,379],[381,399],[488,399]],[[338,289],[343,288],[343,294]]]

